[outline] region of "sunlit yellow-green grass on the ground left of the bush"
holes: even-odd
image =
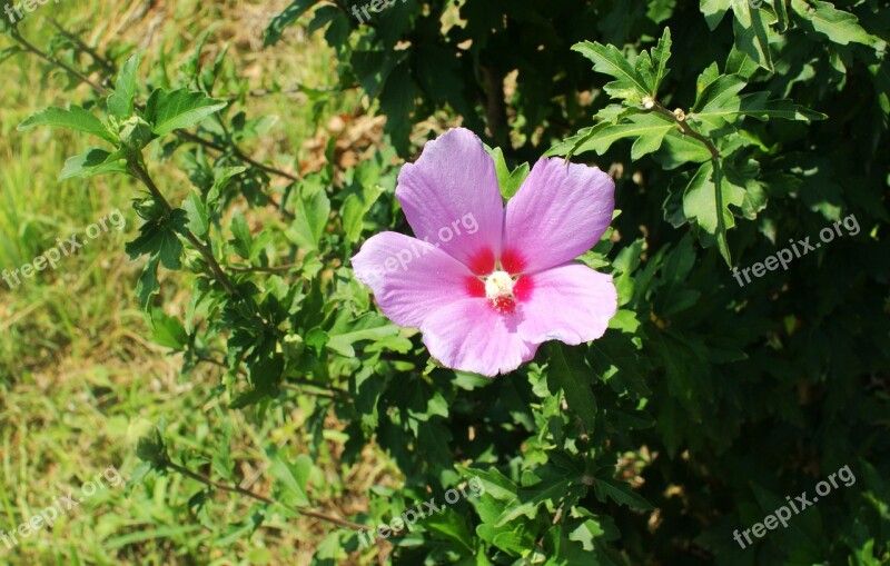
[[[162,2],[139,12],[146,2],[48,3],[28,17],[22,32],[46,47],[51,31],[43,16],[102,50],[128,52],[145,48],[142,73],[161,80],[161,67],[176,73],[194,49],[197,37],[212,28],[206,51],[216,57],[229,47],[230,72],[249,77],[255,89],[278,83],[328,88],[333,54],[322,38],[289,32],[275,50],[261,49],[261,29],[287,2]],[[166,9],[167,11],[162,11]],[[8,39],[0,39],[0,49]],[[9,532],[51,505],[69,489],[113,465],[122,474],[137,467],[126,430],[137,417],[166,416],[168,438],[189,447],[195,458],[208,456],[220,436],[230,434],[238,474],[256,476],[253,488],[268,493],[261,474],[266,450],[276,444],[300,445],[293,434],[301,423],[301,404],[274,408],[265,421],[218,404],[214,388],[219,375],[201,368],[180,373],[181,361],[165,356],[148,341],[148,325],[135,292],[140,265],[131,262],[123,245],[138,230],[131,209],[136,187],[127,179],[99,177],[58,182],[67,157],[95,141],[59,131],[16,131],[32,112],[50,105],[78,102],[85,87],[68,90],[68,78],[37,58],[18,54],[0,66],[0,269],[20,267],[55,246],[57,237],[80,232],[99,217],[120,209],[123,231],[91,241],[81,252],[63,258],[55,271],[42,271],[9,289],[0,281],[0,529]],[[95,77],[99,80],[98,77]],[[247,143],[245,150],[285,169],[312,161],[318,125],[352,115],[349,96],[314,106],[288,95],[247,97],[248,116],[279,117],[270,136]],[[324,141],[324,140],[323,140]],[[316,143],[315,146],[317,146]],[[322,143],[324,148],[324,143]],[[188,188],[182,175],[158,156],[149,166],[172,201]],[[182,308],[177,289],[185,275],[165,274],[162,292],[168,308]],[[295,408],[294,408],[295,407]],[[288,433],[290,433],[288,435]],[[375,475],[340,467],[335,457],[336,434],[329,453],[319,455],[326,475],[312,494],[319,508],[347,515],[363,502],[347,494],[363,493]],[[345,486],[342,477],[354,479]],[[197,516],[188,500],[201,486],[177,475],[158,477],[131,490],[122,485],[100,490],[20,546],[7,550],[0,543],[0,563],[33,564],[308,564],[329,527],[309,520],[271,517],[253,537],[244,526],[254,508],[250,500],[212,495],[207,513]],[[219,533],[230,533],[221,538]]]

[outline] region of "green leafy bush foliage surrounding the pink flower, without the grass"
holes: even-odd
[[[239,109],[241,80],[202,42],[172,73],[120,53],[87,100],[20,126],[95,137],[61,178],[139,188],[135,297],[185,370],[225,368],[215,395],[229,410],[263,419],[294,403],[283,391],[325,394],[307,405],[308,457],[269,453],[274,503],[251,528],[319,503],[313,461],[335,416],[344,463],[376,445],[404,476],[354,525],[485,485],[389,538],[395,564],[890,560],[890,6],[404,0],[365,23],[350,8],[296,0],[266,43],[294,26],[324,33],[339,90],[386,117],[388,143],[355,168],[290,175],[250,158],[241,145],[273,121]],[[7,56],[29,50],[7,33]],[[582,258],[619,290],[602,340],[551,344],[484,379],[431,360],[355,279],[368,236],[408,231],[399,166],[454,123],[494,148],[505,197],[542,155],[613,175],[620,215]],[[191,186],[158,187],[161,167]],[[742,285],[824,229],[833,241]],[[192,275],[185,312],[165,309],[165,270]],[[209,463],[159,438],[139,449],[138,481],[199,467],[237,481],[227,439]],[[733,539],[843,466],[856,484],[751,547]],[[317,563],[364,559],[357,534],[333,530]]]

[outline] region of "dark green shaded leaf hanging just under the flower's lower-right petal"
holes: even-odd
[[[562,389],[568,408],[575,411],[587,434],[596,424],[596,398],[591,386],[595,381],[593,370],[585,364],[578,348],[553,342],[550,351],[550,374],[547,385],[552,393]]]

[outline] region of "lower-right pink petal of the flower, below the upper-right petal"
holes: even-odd
[[[567,264],[531,279],[518,325],[520,336],[530,342],[560,340],[574,346],[595,340],[617,310],[612,276],[587,266]]]

